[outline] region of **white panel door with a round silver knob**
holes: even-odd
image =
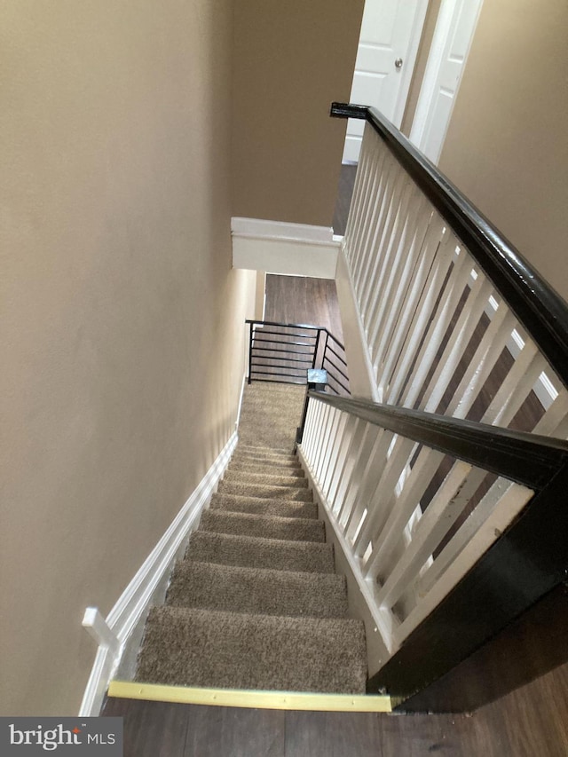
[[[350,102],[400,126],[428,0],[366,0]],[[365,122],[351,118],[343,162],[359,161]]]

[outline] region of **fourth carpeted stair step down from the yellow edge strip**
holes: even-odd
[[[200,531],[259,536],[263,539],[325,541],[325,526],[320,520],[305,517],[258,516],[226,510],[205,510]]]

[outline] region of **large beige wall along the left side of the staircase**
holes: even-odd
[[[5,0],[1,714],[75,714],[106,614],[233,431],[232,0]],[[333,130],[333,129],[332,129]]]

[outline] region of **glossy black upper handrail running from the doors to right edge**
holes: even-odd
[[[365,119],[469,249],[568,387],[568,305],[506,237],[374,107],[332,103],[336,118]]]

